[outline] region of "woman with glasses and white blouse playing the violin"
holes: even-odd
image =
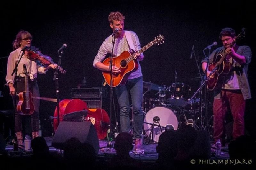
[[[29,32],[21,30],[16,35],[16,39],[13,41],[13,49],[9,55],[8,62],[7,62],[7,74],[5,80],[10,88],[10,94],[13,98],[13,104],[15,103],[15,85],[17,85],[16,94],[25,91],[26,89],[26,81],[25,81],[25,74],[23,74],[23,65],[26,65],[28,71],[28,89],[32,93],[33,97],[40,97],[39,88],[36,82],[37,73],[45,74],[48,69],[50,68],[57,68],[56,64],[50,64],[48,66],[42,66],[40,63],[29,60],[27,56],[27,51],[23,54],[23,48],[31,46],[32,36]],[[21,57],[21,59],[20,59]],[[16,63],[19,62],[17,67],[17,76],[21,76],[19,81],[15,81],[15,74],[12,75],[12,72],[15,68]],[[17,84],[15,84],[17,83]],[[14,106],[17,108],[17,104],[19,102],[19,97],[16,96],[16,105]],[[31,131],[32,131],[32,138],[35,138],[39,135],[39,106],[40,100],[33,99],[35,111],[30,116],[31,117]],[[22,135],[22,118],[23,116],[17,112],[15,113],[15,135],[18,138],[19,145],[23,145],[23,135]],[[29,134],[30,135],[30,134]]]

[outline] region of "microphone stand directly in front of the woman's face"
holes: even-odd
[[[24,53],[25,53],[25,50],[22,51],[20,60],[21,60],[22,56],[24,55]],[[15,91],[14,91],[14,107],[13,107],[13,129],[14,129],[14,132],[15,132],[15,113],[16,113],[16,100],[17,100],[17,95],[16,95],[17,82],[18,82],[18,78],[21,77],[20,75],[19,76],[17,75],[18,74],[18,65],[20,63],[20,60],[18,60],[18,62],[16,63],[15,68],[13,69],[12,74],[11,74],[13,76],[13,74],[15,73],[15,79],[14,79],[15,80],[15,82],[14,82]],[[13,134],[13,135],[15,135],[15,134]],[[14,142],[14,141],[12,141],[12,142]]]

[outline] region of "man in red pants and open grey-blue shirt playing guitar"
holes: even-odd
[[[236,33],[232,28],[224,28],[220,32],[222,47],[214,50],[209,56],[209,64],[216,63],[218,55],[227,53],[226,62],[230,62],[231,70],[223,81],[217,81],[220,88],[213,90],[213,138],[215,142],[220,139],[221,145],[225,146],[224,119],[228,109],[230,109],[234,124],[233,124],[233,139],[244,134],[244,112],[245,100],[251,98],[250,85],[248,83],[247,70],[251,62],[252,52],[249,46],[237,46],[235,43]],[[234,42],[233,46],[232,42]],[[207,71],[209,77],[211,71],[206,69],[207,58],[202,60],[202,69]],[[216,74],[217,75],[217,74]],[[209,78],[216,77],[213,73]],[[220,74],[221,76],[221,74]]]

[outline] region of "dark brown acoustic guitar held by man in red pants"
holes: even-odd
[[[240,38],[243,38],[245,34],[245,28],[235,37],[230,47],[232,48],[236,41]],[[215,61],[212,64],[209,64],[208,70],[214,71],[213,78],[207,78],[207,86],[209,90],[220,89],[222,87],[222,83],[225,77],[228,75],[230,70],[232,70],[232,65],[229,60],[226,60],[228,53],[225,51],[224,53],[220,53],[217,55]]]

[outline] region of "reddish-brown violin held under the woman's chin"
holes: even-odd
[[[39,61],[42,65],[44,66],[49,66],[50,64],[56,64],[53,62],[52,58],[48,55],[44,55],[41,53],[41,51],[38,50],[35,46],[31,46],[28,49],[28,59],[32,61]],[[61,68],[60,66],[58,67],[60,70],[60,73],[65,74],[66,70]]]

